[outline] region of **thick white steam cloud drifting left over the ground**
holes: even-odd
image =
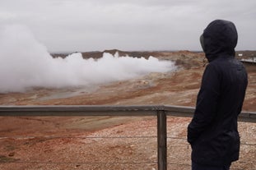
[[[119,57],[104,53],[100,59],[83,59],[81,53],[53,58],[25,26],[0,29],[0,92],[31,87],[62,88],[127,80],[150,72],[173,71],[173,62],[155,57]]]

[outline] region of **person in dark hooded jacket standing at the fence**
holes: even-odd
[[[243,64],[235,59],[237,31],[231,21],[212,21],[200,37],[208,64],[202,75],[187,140],[192,170],[229,170],[239,159],[238,115],[248,84]]]

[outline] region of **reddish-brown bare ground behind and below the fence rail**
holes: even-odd
[[[156,53],[155,53],[156,54]],[[88,90],[35,89],[0,94],[2,105],[194,106],[202,53],[157,53],[179,70]],[[247,66],[244,110],[256,111],[256,66]],[[156,169],[156,117],[0,117],[0,169]],[[190,169],[189,117],[168,117],[168,169]],[[256,123],[240,122],[241,156],[234,169],[256,169]],[[126,138],[128,137],[128,138]]]

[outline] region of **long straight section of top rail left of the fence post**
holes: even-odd
[[[156,116],[164,106],[0,106],[0,116]]]

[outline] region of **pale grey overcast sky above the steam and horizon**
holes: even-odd
[[[0,0],[0,29],[26,25],[49,52],[201,50],[210,21],[233,21],[256,49],[255,0]]]

